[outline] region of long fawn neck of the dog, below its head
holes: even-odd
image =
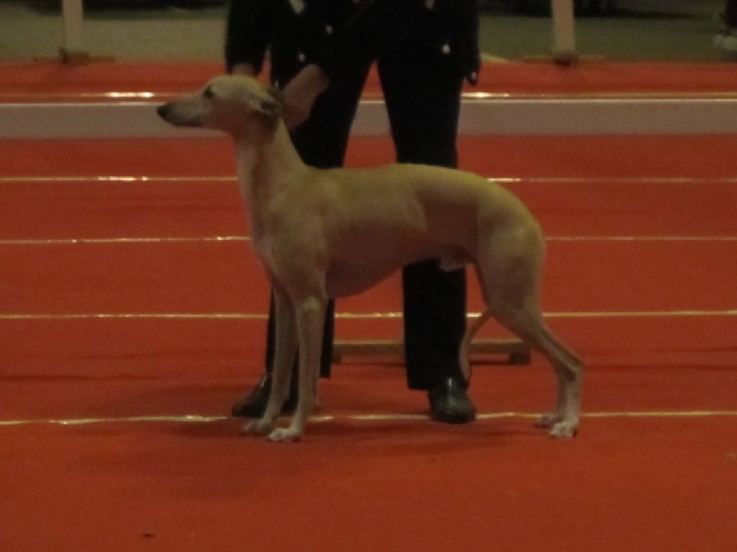
[[[238,176],[250,214],[251,231],[258,236],[267,225],[268,206],[309,170],[297,153],[285,124],[235,140]]]

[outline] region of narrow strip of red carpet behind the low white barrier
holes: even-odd
[[[88,66],[0,64],[3,95],[94,93],[194,90],[222,73],[217,63],[114,63]],[[735,92],[734,64],[582,63],[485,64],[477,88],[470,91],[509,93],[587,92]],[[372,74],[369,92],[378,91]]]

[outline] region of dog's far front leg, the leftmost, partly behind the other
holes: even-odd
[[[267,435],[274,430],[276,419],[289,394],[292,366],[297,354],[297,330],[292,299],[283,291],[274,290],[275,342],[274,365],[272,366],[272,393],[266,410],[260,420],[244,427],[246,433]]]

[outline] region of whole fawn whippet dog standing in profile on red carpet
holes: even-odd
[[[363,291],[406,264],[438,257],[447,269],[476,268],[486,310],[468,329],[469,345],[496,318],[553,366],[558,398],[537,423],[573,437],[581,407],[581,360],[546,327],[540,309],[543,238],[509,191],[461,170],[394,164],[376,168],[306,166],[289,139],[274,92],[250,77],[221,76],[158,114],[176,126],[228,133],[235,144],[252,242],[275,297],[272,394],[249,433],[298,440],[315,406],[328,298]],[[288,428],[276,428],[299,351],[299,401]]]

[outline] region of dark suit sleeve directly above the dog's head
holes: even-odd
[[[226,22],[228,73],[239,63],[251,64],[261,73],[277,20],[276,4],[274,0],[230,0]]]

